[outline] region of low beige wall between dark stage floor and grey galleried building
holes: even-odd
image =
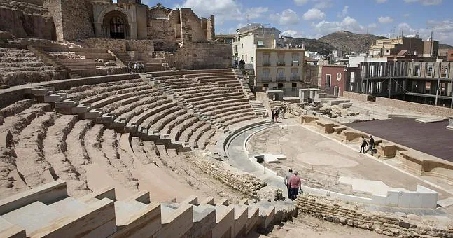
[[[426,104],[417,104],[415,102],[407,102],[403,100],[388,99],[386,97],[376,97],[376,104],[382,106],[391,106],[397,109],[406,109],[412,111],[419,111],[421,113],[428,113],[438,116],[452,116],[453,109],[442,106],[432,106]]]

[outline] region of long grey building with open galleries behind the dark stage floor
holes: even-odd
[[[453,62],[362,62],[348,90],[453,108]],[[348,70],[348,69],[347,69]]]

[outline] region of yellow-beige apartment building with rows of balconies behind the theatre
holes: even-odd
[[[256,87],[271,89],[302,87],[304,55],[303,49],[257,48],[254,64]]]

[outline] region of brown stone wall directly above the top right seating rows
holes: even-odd
[[[176,52],[176,69],[227,69],[232,67],[232,45],[193,43],[184,44]]]

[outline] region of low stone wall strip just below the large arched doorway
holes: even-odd
[[[85,38],[78,40],[89,48],[122,50],[122,51],[154,51],[151,40],[120,40],[111,38]]]

